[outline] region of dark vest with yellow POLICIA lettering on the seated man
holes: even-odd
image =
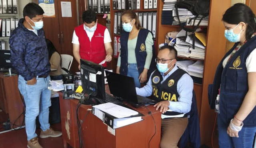
[[[153,88],[153,99],[157,102],[160,101],[178,101],[178,97],[180,95],[177,91],[177,83],[179,79],[184,75],[186,71],[178,68],[174,73],[172,73],[162,84],[162,75],[158,70],[154,71],[152,74],[152,88]],[[181,112],[174,112],[174,111],[167,111],[164,113],[166,116],[173,117],[186,117],[187,114],[184,116],[180,116],[184,113]]]

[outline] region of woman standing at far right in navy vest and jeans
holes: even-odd
[[[217,67],[209,87],[211,107],[216,104],[220,148],[252,148],[256,134],[256,18],[245,4],[223,15],[225,37],[235,42]],[[218,94],[218,92],[220,92]]]

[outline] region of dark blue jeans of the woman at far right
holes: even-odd
[[[238,132],[238,138],[230,137],[227,133],[228,125],[224,122],[225,117],[218,115],[218,132],[220,148],[252,148],[254,136],[256,133],[255,127],[243,127]]]

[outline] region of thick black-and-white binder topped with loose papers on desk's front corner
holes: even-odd
[[[94,105],[92,113],[113,129],[143,120],[139,112],[114,103]]]

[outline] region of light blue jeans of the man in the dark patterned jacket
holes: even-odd
[[[25,125],[27,140],[36,137],[36,117],[39,115],[39,122],[43,131],[50,128],[49,107],[51,106],[51,91],[47,89],[50,76],[37,78],[36,84],[27,85],[24,78],[19,75],[18,88],[22,94],[25,105]]]

